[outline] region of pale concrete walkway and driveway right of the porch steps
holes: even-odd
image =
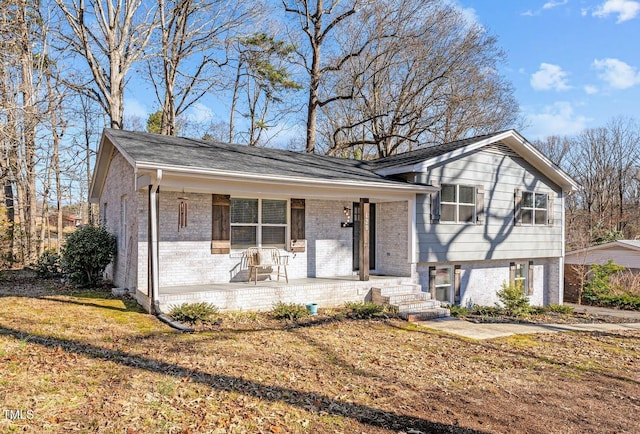
[[[618,318],[629,318],[630,321],[640,321],[640,312],[606,309],[593,306],[570,305],[576,312],[592,315],[610,315]],[[493,339],[504,336],[528,333],[549,333],[568,331],[640,331],[640,322],[629,323],[593,323],[593,324],[508,324],[508,323],[472,323],[457,318],[439,318],[431,321],[421,321],[417,324],[435,330],[464,336],[471,339]]]

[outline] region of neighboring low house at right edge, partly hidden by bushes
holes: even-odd
[[[588,269],[594,264],[602,265],[609,261],[640,273],[640,241],[617,240],[567,252],[564,280],[567,292],[564,300],[577,302],[582,279],[586,277]]]

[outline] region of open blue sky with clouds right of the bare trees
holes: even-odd
[[[528,139],[640,121],[640,1],[455,2],[506,52]]]

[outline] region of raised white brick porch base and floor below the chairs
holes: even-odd
[[[411,283],[410,277],[372,275],[361,281],[357,275],[280,280],[258,280],[204,285],[160,287],[159,302],[163,310],[181,303],[208,302],[221,310],[270,310],[273,304],[317,303],[320,307],[337,307],[346,301],[370,299],[376,286]]]

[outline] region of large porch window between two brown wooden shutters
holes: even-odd
[[[231,198],[231,248],[284,248],[287,201]]]

